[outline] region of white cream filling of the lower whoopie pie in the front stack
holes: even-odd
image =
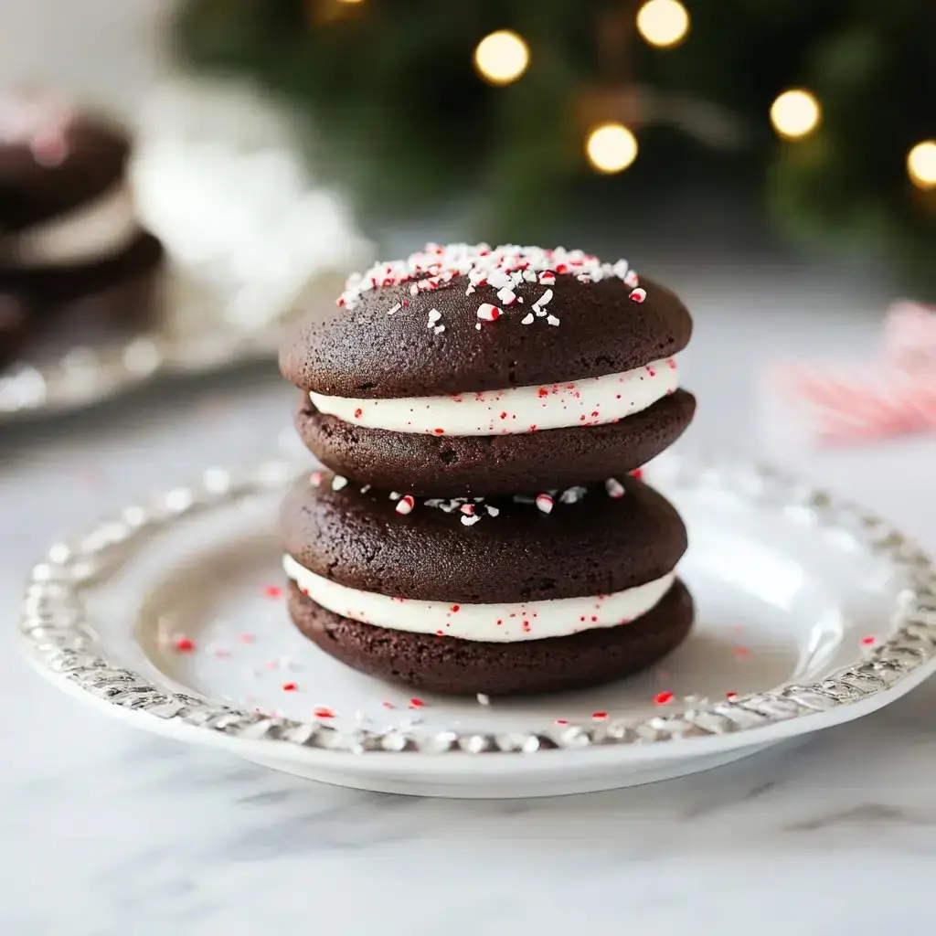
[[[461,605],[417,601],[386,594],[359,592],[322,578],[284,556],[285,574],[316,605],[350,618],[394,631],[513,643],[578,634],[596,627],[615,627],[646,614],[669,591],[676,574],[589,598],[555,598],[520,604]]]

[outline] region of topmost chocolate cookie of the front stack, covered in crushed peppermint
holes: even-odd
[[[689,342],[692,320],[626,261],[581,251],[430,244],[349,278],[280,355],[286,379],[386,399],[621,373]]]

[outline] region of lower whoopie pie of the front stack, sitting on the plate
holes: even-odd
[[[689,631],[686,531],[624,475],[536,497],[415,498],[314,473],[285,499],[289,609],[354,668],[455,695],[619,679]]]

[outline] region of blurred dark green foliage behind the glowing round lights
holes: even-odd
[[[316,168],[362,212],[470,199],[488,232],[519,218],[533,232],[561,210],[557,193],[595,183],[582,142],[602,89],[637,80],[692,95],[739,119],[744,160],[791,230],[870,246],[936,288],[936,193],[906,172],[914,143],[936,139],[931,0],[685,2],[692,32],[673,50],[635,36],[638,5],[624,0],[187,0],[178,46],[192,66],[246,75],[308,113]],[[472,54],[502,28],[527,39],[532,64],[492,88]],[[823,124],[782,143],[768,110],[793,86],[817,95]],[[684,133],[649,125],[640,137],[635,168],[601,180],[609,198],[665,186],[698,159]]]

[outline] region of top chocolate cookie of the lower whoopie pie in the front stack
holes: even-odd
[[[364,592],[472,604],[622,592],[662,578],[686,530],[624,476],[533,497],[414,500],[340,475],[301,477],[281,511],[286,552]]]

